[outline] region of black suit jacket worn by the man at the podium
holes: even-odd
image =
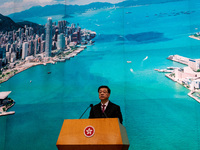
[[[120,106],[111,101],[109,101],[104,113],[101,110],[101,103],[94,105],[90,110],[89,118],[119,118],[121,124],[123,121]]]

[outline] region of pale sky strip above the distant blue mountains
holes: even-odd
[[[1,0],[0,13],[3,15],[9,15],[38,5],[46,6],[65,3],[67,5],[85,5],[92,2],[109,2],[115,4],[122,1],[125,0]]]

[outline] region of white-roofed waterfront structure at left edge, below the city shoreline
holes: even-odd
[[[15,105],[15,101],[8,97],[11,91],[0,92],[0,116],[11,115],[14,114],[15,111],[7,110]]]

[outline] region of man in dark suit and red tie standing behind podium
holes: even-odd
[[[91,108],[89,118],[119,118],[122,124],[123,119],[120,106],[109,101],[110,92],[111,90],[108,86],[100,86],[98,88],[101,102]]]

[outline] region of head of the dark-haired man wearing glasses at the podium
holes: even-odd
[[[98,88],[99,99],[101,102],[106,102],[110,97],[110,88],[108,86],[102,85]]]

